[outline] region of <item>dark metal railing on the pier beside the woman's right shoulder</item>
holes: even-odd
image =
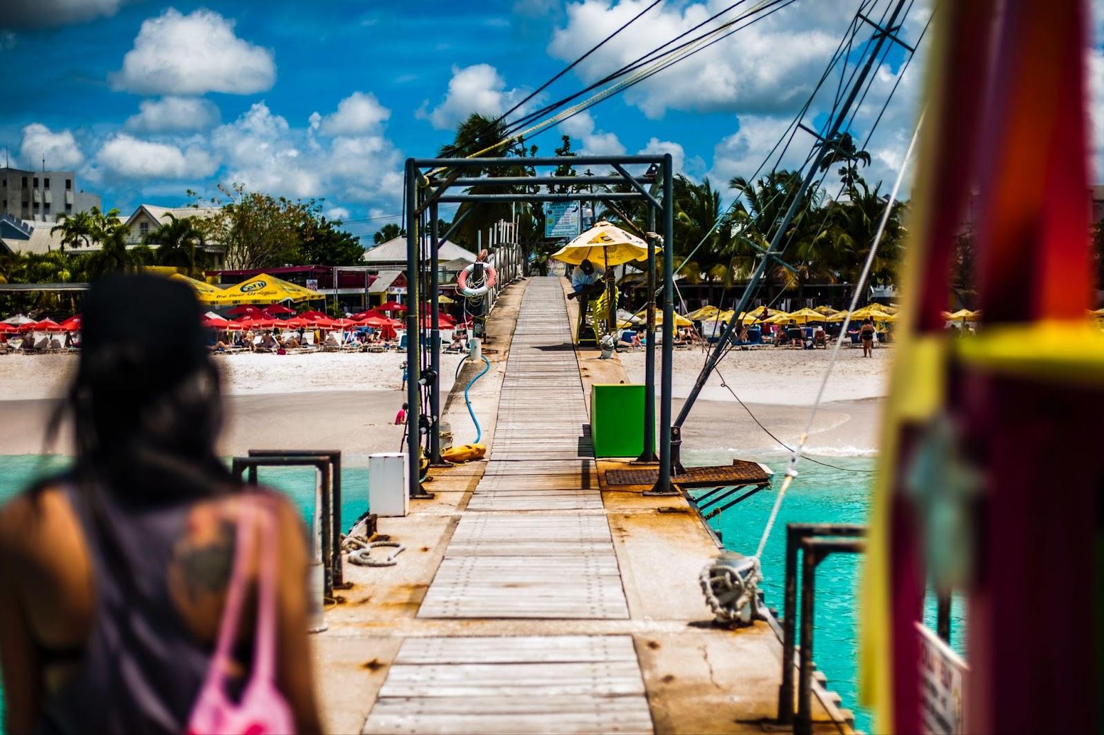
[[[322,594],[332,598],[335,587],[346,586],[341,564],[341,452],[336,449],[251,449],[247,457],[231,460],[231,472],[238,480],[248,472],[248,484],[259,483],[259,467],[314,467],[318,470],[311,545],[317,544],[316,562],[322,565]]]

